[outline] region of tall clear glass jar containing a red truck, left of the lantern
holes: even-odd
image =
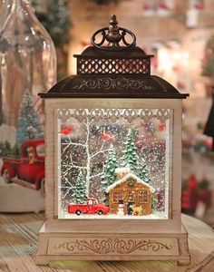
[[[12,188],[18,189],[21,203],[22,190],[40,207],[38,199],[44,195],[44,113],[37,93],[46,92],[56,81],[56,54],[29,1],[9,2],[10,14],[0,34],[0,186],[10,188],[8,194]],[[17,209],[19,200],[8,197],[10,201],[15,198],[11,211],[42,209],[29,205]],[[1,202],[0,210],[8,211]]]

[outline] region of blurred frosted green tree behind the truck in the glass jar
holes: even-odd
[[[40,123],[38,115],[34,111],[32,96],[30,92],[26,90],[19,111],[16,145],[19,147],[26,140],[43,138],[43,126]]]

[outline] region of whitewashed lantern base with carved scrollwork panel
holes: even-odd
[[[173,260],[190,264],[188,234],[182,227],[171,233],[39,233],[37,265],[55,260]]]

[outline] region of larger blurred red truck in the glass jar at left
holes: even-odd
[[[6,183],[41,189],[44,195],[44,140],[24,141],[18,159],[3,158],[1,176]]]

